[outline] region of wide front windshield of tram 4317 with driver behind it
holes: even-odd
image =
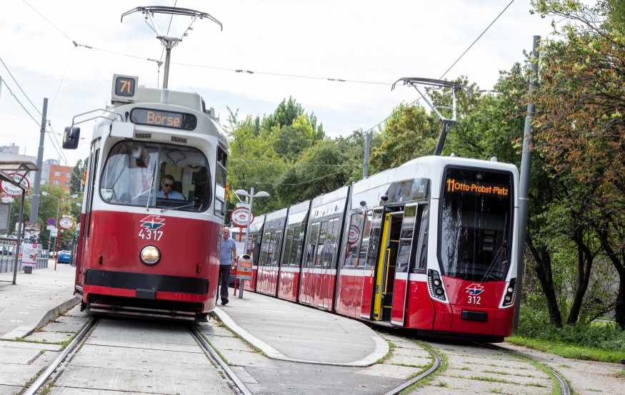
[[[210,178],[206,156],[196,148],[125,141],[106,159],[100,195],[111,204],[204,211]]]

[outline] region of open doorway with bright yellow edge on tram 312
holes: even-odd
[[[374,280],[373,319],[375,321],[391,320],[397,251],[399,250],[399,235],[403,220],[403,211],[387,212],[384,215],[384,226],[380,239],[381,249]]]

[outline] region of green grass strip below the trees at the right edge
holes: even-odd
[[[528,339],[520,336],[508,337],[506,338],[506,342],[542,352],[550,352],[551,354],[564,356],[564,358],[611,362],[613,364],[619,364],[625,354],[624,352],[609,351],[595,347],[564,344],[554,340]]]

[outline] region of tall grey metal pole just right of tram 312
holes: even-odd
[[[529,93],[536,88],[538,79],[538,51],[541,36],[534,36],[534,43],[531,47],[533,59],[531,63],[531,76],[529,78]],[[529,172],[531,170],[531,120],[534,119],[534,103],[527,103],[527,116],[525,117],[525,130],[523,134],[523,155],[521,156],[521,176],[519,180],[519,241],[516,245],[516,304],[514,306],[514,324],[512,332],[519,331],[519,312],[521,311],[521,288],[523,287],[523,273],[525,271],[525,235],[527,227],[527,212],[529,206]]]

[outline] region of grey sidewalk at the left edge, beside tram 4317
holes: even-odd
[[[31,275],[18,272],[16,285],[0,282],[0,339],[24,337],[78,303],[75,273],[69,265],[56,265],[55,271],[51,260]],[[12,281],[13,272],[0,273],[0,279]]]

